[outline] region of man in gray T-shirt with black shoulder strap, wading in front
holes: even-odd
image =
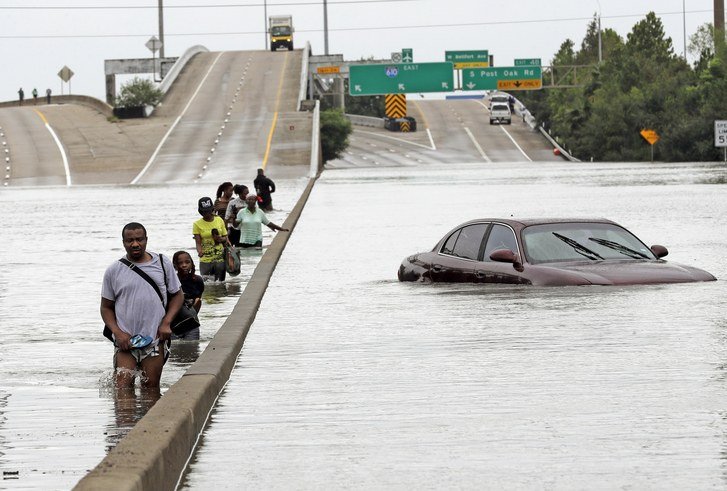
[[[169,258],[147,252],[142,224],[125,225],[121,237],[126,256],[106,269],[101,288],[101,318],[111,329],[116,347],[116,387],[132,387],[139,368],[144,387],[159,387],[168,355],[166,342],[172,335],[171,322],[182,306],[184,294]],[[163,301],[135,268],[156,284]]]

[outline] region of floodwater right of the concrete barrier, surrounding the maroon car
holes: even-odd
[[[326,171],[183,489],[727,487],[727,169]],[[399,283],[477,217],[606,217],[720,281]]]

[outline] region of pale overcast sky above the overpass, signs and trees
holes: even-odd
[[[59,94],[64,65],[75,73],[74,94],[103,99],[105,59],[151,57],[145,43],[158,36],[158,3],[2,0],[0,100],[16,99],[19,87],[26,97],[33,87]],[[266,49],[265,6],[268,15],[293,15],[296,47],[307,41],[313,54],[324,53],[323,0],[164,0],[165,55],[196,44],[210,51]],[[445,51],[487,49],[499,66],[514,58],[547,64],[566,38],[580,45],[599,11],[603,28],[622,37],[654,11],[682,54],[684,19],[688,38],[712,22],[712,7],[713,0],[329,0],[329,53],[357,60],[411,48],[415,62],[431,62],[444,61]]]

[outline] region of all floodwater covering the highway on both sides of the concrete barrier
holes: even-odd
[[[185,489],[724,487],[727,171],[478,163],[327,170],[273,275]],[[276,180],[282,223],[305,180]],[[215,186],[5,189],[0,488],[69,489],[143,415],[110,388],[104,269],[139,220],[192,249]],[[475,217],[606,217],[720,281],[531,288],[399,283]],[[266,231],[266,234],[271,232]],[[266,243],[271,235],[266,235]],[[202,340],[258,257],[210,285]]]

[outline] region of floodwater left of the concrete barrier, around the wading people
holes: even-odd
[[[273,222],[283,223],[307,182],[276,179]],[[0,190],[0,489],[72,488],[158,398],[113,389],[113,348],[99,315],[103,273],[125,253],[121,229],[130,221],[146,226],[151,251],[194,251],[197,200],[216,189]],[[263,228],[268,244],[273,232]],[[240,275],[206,285],[201,339],[174,342],[162,393],[222,325],[260,256],[245,251]]]

